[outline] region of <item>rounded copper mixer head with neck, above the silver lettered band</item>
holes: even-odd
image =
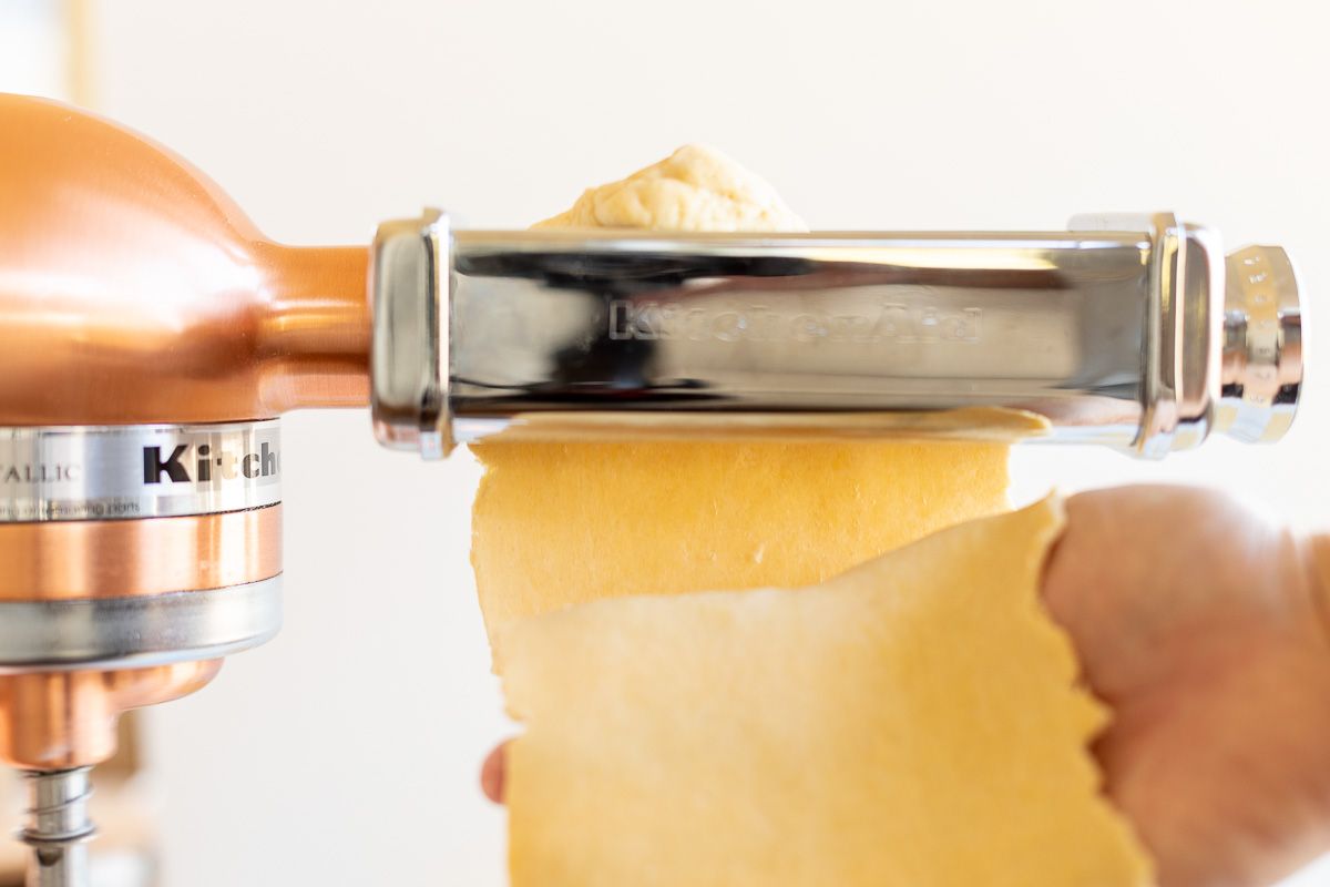
[[[181,157],[0,96],[0,426],[367,403],[367,247],[259,234]]]

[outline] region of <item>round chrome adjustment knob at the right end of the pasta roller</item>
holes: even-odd
[[[1245,443],[1287,432],[1302,391],[1302,309],[1289,254],[1248,246],[1226,259],[1216,428]]]

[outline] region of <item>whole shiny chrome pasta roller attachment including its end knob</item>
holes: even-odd
[[[813,416],[964,407],[1047,440],[1158,457],[1283,434],[1302,380],[1287,255],[1225,259],[1174,215],[1051,233],[454,231],[388,222],[372,253],[379,440],[439,457],[531,419],[661,415],[724,436]],[[543,426],[544,427],[544,426]]]

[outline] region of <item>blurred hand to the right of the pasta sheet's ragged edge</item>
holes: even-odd
[[[1330,848],[1330,642],[1311,547],[1212,491],[1067,501],[1044,600],[1113,709],[1105,791],[1161,887],[1269,884]]]

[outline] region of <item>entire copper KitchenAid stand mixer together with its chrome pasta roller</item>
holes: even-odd
[[[496,432],[950,435],[1004,407],[1157,457],[1277,439],[1301,390],[1287,257],[1225,259],[1169,214],[661,235],[427,213],[289,247],[110,122],[0,96],[0,761],[29,774],[29,884],[88,883],[117,717],[278,630],[287,410],[368,404],[380,442],[438,457]]]

